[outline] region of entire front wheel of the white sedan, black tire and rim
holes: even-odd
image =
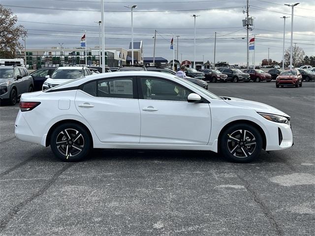
[[[262,138],[259,131],[252,125],[233,124],[221,134],[219,148],[220,153],[229,161],[251,162],[258,157],[261,151]]]

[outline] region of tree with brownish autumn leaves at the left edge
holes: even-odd
[[[16,26],[17,20],[11,9],[0,5],[0,58],[13,58],[17,50],[23,49],[19,39],[25,30],[22,25]]]

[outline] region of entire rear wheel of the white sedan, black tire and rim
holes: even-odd
[[[58,143],[61,144],[58,146]],[[88,131],[76,123],[64,123],[54,129],[50,136],[50,147],[62,161],[73,162],[85,158],[91,149]]]

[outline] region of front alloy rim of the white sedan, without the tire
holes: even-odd
[[[248,130],[236,130],[232,134],[228,134],[227,148],[233,156],[246,158],[255,151],[256,138]]]

